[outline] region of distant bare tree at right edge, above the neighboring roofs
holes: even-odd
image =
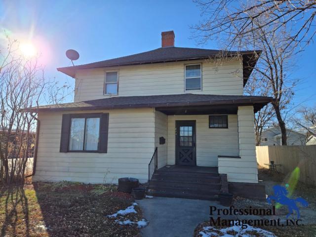
[[[296,125],[303,128],[308,136],[316,136],[316,106],[301,107],[296,113],[298,114],[294,119]]]

